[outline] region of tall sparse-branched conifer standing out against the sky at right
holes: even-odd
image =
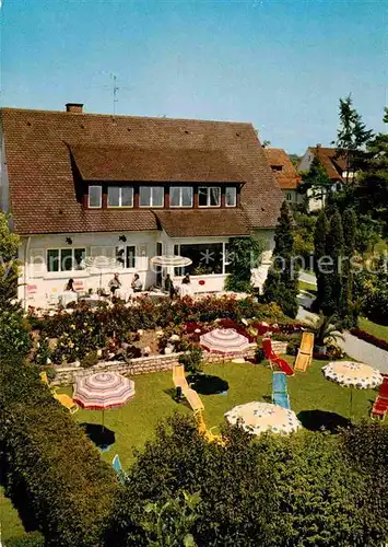
[[[351,94],[340,98],[340,127],[337,132],[337,152],[345,161],[345,171],[349,182],[349,172],[356,170],[362,161],[361,150],[373,137],[373,131],[366,129],[361,115],[353,107]],[[354,177],[352,178],[354,181]]]

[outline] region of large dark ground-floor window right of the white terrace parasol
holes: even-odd
[[[174,253],[192,260],[187,268],[175,268],[176,276],[209,276],[224,272],[223,243],[197,243],[193,245],[175,245]]]

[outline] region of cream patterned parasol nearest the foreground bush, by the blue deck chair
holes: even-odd
[[[239,424],[245,431],[256,435],[264,432],[289,434],[302,428],[292,410],[257,400],[232,408],[225,417],[230,423]]]

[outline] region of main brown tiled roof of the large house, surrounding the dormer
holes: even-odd
[[[157,229],[151,210],[84,210],[69,144],[223,153],[246,182],[242,207],[250,226],[277,224],[283,195],[250,124],[14,108],[2,108],[1,123],[16,233]]]

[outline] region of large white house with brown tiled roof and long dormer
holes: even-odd
[[[266,241],[283,195],[250,124],[2,108],[1,201],[20,234],[20,298],[44,305],[69,280],[161,284],[154,255],[192,260],[195,292],[223,290],[231,237]],[[104,268],[93,259],[105,257]],[[90,263],[93,263],[93,267]],[[252,265],[255,266],[255,265]],[[181,270],[169,269],[176,283]]]

